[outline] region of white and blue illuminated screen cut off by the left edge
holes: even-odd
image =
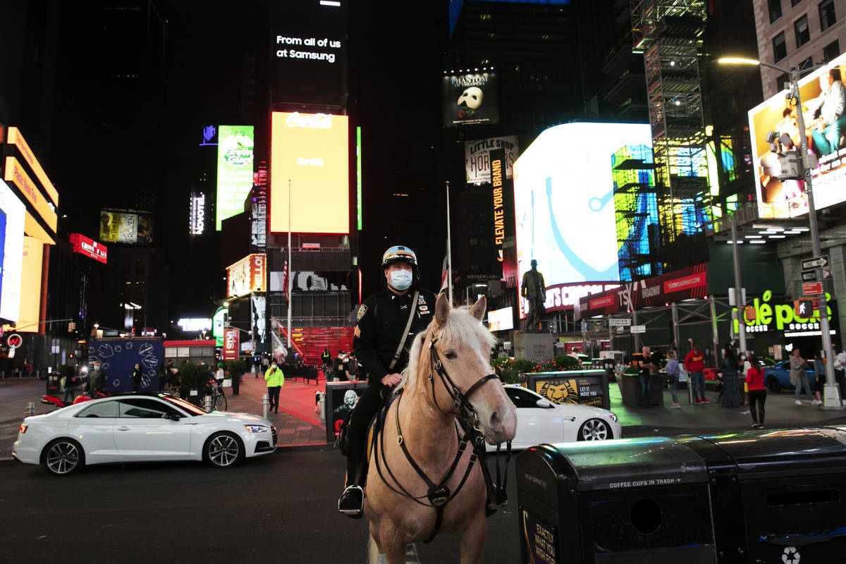
[[[8,321],[17,321],[24,257],[26,206],[2,180],[0,180],[0,210],[6,214],[5,240],[3,241],[3,282],[0,285],[0,317]],[[39,277],[39,281],[41,281],[41,277]]]

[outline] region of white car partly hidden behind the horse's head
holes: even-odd
[[[505,393],[517,408],[517,433],[511,447],[541,443],[605,441],[623,436],[617,415],[607,409],[575,403],[552,403],[523,386],[507,384]],[[488,451],[496,446],[487,446]]]

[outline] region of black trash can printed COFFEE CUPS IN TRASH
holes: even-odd
[[[516,462],[523,562],[716,562],[705,463],[662,437],[533,446]]]

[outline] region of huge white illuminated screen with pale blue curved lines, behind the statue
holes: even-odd
[[[565,123],[543,131],[514,162],[519,283],[532,259],[547,286],[619,280],[611,163],[624,145],[651,146],[650,127]]]

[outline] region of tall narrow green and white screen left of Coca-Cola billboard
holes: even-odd
[[[244,200],[253,188],[253,126],[221,125],[217,135],[217,219],[244,211]]]

